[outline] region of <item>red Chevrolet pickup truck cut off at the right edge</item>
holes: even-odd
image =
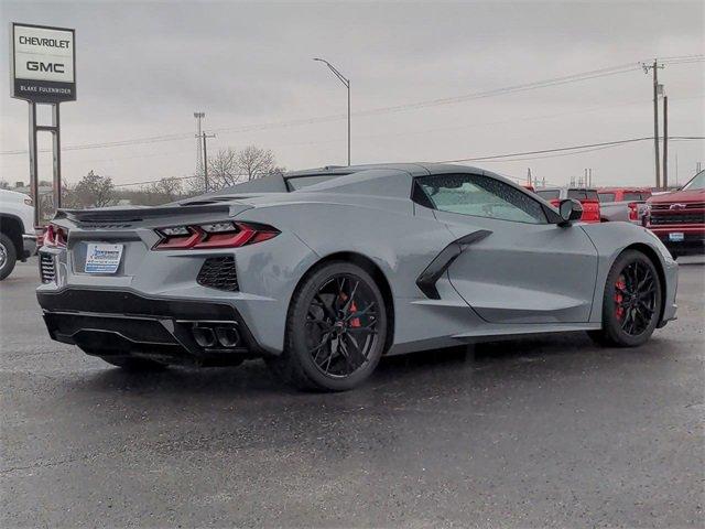
[[[652,196],[647,205],[646,226],[674,258],[705,253],[705,170],[679,191]]]

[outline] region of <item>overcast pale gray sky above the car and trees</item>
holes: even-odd
[[[651,77],[632,71],[423,108],[366,110],[466,96],[600,68],[705,52],[705,2],[9,2],[0,0],[0,71],[9,22],[76,29],[78,100],[62,105],[64,177],[89,170],[116,183],[193,174],[194,110],[217,130],[209,151],[257,144],[305,169],[346,162],[351,79],[352,162],[442,161],[653,134]],[[671,136],[705,136],[705,63],[668,63]],[[0,75],[0,179],[29,180],[26,102]],[[314,118],[332,117],[328,120]],[[301,125],[301,121],[311,122]],[[292,123],[299,121],[299,125]],[[267,127],[259,127],[267,125]],[[249,127],[249,129],[248,129]],[[48,139],[42,143],[48,147]],[[672,141],[681,182],[705,142]],[[522,156],[518,156],[522,158]],[[525,156],[524,156],[525,158]],[[51,179],[46,154],[43,179]],[[593,168],[598,184],[653,182],[653,142],[576,155],[475,162],[565,183]]]

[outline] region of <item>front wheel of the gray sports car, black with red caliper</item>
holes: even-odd
[[[590,332],[601,345],[638,347],[653,334],[661,315],[663,287],[651,259],[623,251],[607,276],[603,298],[603,328]]]

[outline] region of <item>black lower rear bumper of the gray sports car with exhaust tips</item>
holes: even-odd
[[[85,288],[37,291],[36,296],[50,336],[88,354],[187,364],[228,364],[263,354],[238,311],[226,303]]]

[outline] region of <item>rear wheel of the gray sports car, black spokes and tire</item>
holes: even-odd
[[[372,374],[386,339],[384,299],[372,277],[356,264],[332,261],[308,272],[294,292],[284,352],[265,361],[297,389],[345,391]]]

